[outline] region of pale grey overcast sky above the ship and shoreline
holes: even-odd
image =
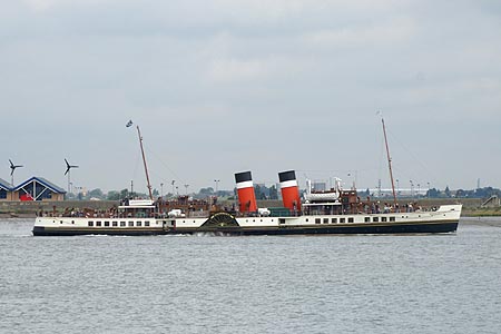
[[[501,2],[0,0],[0,178],[501,187]],[[350,176],[348,176],[350,174]],[[183,189],[183,190],[181,190]],[[184,193],[184,187],[179,188]]]

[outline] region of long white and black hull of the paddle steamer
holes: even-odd
[[[219,216],[218,216],[219,215]],[[372,230],[365,227],[419,226],[458,224],[461,205],[444,205],[434,212],[356,214],[356,215],[307,215],[291,217],[233,217],[228,214],[216,214],[204,218],[84,218],[84,217],[38,217],[33,226],[35,235],[148,235],[176,234],[196,232],[235,232],[235,234],[276,234],[274,230],[291,229],[316,230],[315,234],[337,233],[336,228],[347,233]],[[334,232],[328,232],[334,230]],[[351,232],[354,230],[354,232]],[[397,229],[399,230],[399,229]],[[455,230],[455,228],[454,228]],[[439,230],[440,232],[440,230]],[[384,232],[383,232],[384,233]],[[392,233],[392,232],[389,232]],[[287,233],[279,233],[287,234]],[[293,234],[293,233],[291,233]],[[307,232],[305,233],[307,234]]]

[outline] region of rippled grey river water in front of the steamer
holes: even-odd
[[[500,333],[501,219],[420,236],[32,237],[0,222],[0,333]]]

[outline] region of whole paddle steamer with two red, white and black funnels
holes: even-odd
[[[139,127],[138,136],[143,150]],[[58,217],[37,217],[36,236],[62,235],[167,235],[167,234],[223,234],[223,235],[315,235],[315,234],[421,234],[453,233],[458,228],[461,205],[442,205],[422,209],[415,204],[399,206],[393,186],[391,158],[386,153],[393,188],[393,203],[362,200],[354,188],[344,190],[341,180],[326,191],[312,188],[299,197],[294,170],[278,174],[284,208],[258,208],[250,171],[235,174],[238,205],[222,208],[215,203],[195,205],[188,198],[177,207],[150,199],[130,199],[106,214],[88,212]],[[169,208],[166,210],[166,208]]]

